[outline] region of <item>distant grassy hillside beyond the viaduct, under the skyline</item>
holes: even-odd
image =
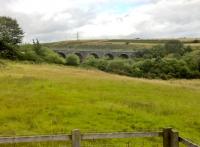
[[[94,50],[140,50],[151,49],[156,45],[163,45],[166,40],[79,40],[46,43],[52,49],[94,49]],[[194,39],[181,40],[186,46],[200,49],[200,43],[193,43]]]

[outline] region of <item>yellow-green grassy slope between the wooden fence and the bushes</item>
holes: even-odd
[[[56,65],[0,68],[0,134],[178,129],[200,142],[200,80],[134,79]]]

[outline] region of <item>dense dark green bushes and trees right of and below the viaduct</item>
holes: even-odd
[[[199,51],[192,51],[189,46],[184,47],[181,45],[175,47],[176,51],[173,51],[169,49],[170,45],[167,46],[167,49],[166,46],[156,46],[152,50],[145,50],[141,57],[138,56],[134,60],[89,58],[84,64],[103,71],[133,77],[160,79],[200,78]]]

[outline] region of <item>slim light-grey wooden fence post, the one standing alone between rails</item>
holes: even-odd
[[[81,146],[81,133],[78,129],[72,130],[72,147]]]

